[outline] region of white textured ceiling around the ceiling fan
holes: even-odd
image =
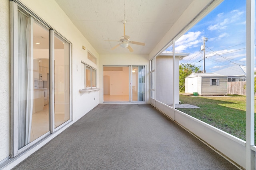
[[[122,20],[127,20],[125,35],[133,54],[149,54],[193,0],[55,0],[99,54],[129,54],[118,47],[124,35]]]

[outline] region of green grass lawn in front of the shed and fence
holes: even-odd
[[[180,101],[181,104],[191,104],[200,108],[178,110],[245,141],[246,96],[195,97],[180,95]],[[256,105],[254,105],[254,111],[255,108]]]

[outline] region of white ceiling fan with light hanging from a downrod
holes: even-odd
[[[129,45],[130,44],[136,44],[136,45],[145,45],[145,43],[140,43],[136,41],[130,41],[130,37],[128,35],[125,35],[125,24],[126,20],[122,20],[122,23],[124,24],[124,36],[120,37],[119,41],[120,42],[118,45],[112,48],[112,50],[116,49],[116,47],[123,47],[123,48],[128,48],[130,52],[133,52],[134,50],[132,47]],[[116,41],[116,40],[105,40],[105,41]]]

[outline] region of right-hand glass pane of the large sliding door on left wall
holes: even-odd
[[[54,35],[54,127],[70,119],[70,44]]]

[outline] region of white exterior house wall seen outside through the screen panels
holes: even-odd
[[[172,70],[172,56],[158,56],[156,57],[156,100],[167,104],[173,104],[173,70]],[[176,73],[179,72],[179,58],[175,59]],[[179,75],[176,74],[176,82],[174,86],[176,103],[179,104]]]

